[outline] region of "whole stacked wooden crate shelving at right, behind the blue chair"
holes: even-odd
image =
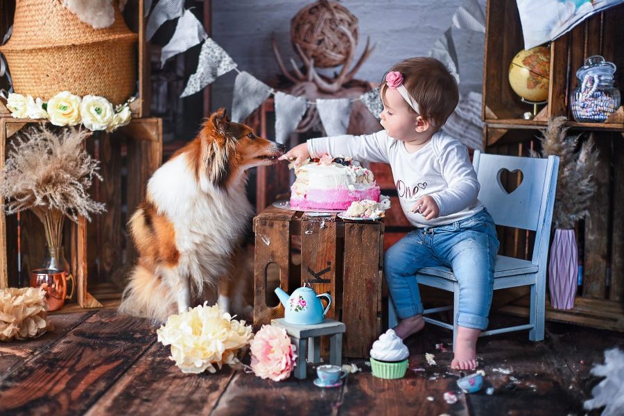
[[[590,215],[575,227],[582,263],[582,286],[570,311],[547,305],[546,319],[624,331],[624,110],[620,107],[606,123],[578,123],[569,110],[570,92],[577,87],[576,70],[585,58],[603,55],[614,62],[615,85],[624,87],[624,5],[609,8],[578,24],[550,43],[551,81],[548,105],[535,119],[522,119],[530,105],[522,103],[508,81],[513,56],[523,49],[521,23],[515,0],[487,2],[483,82],[484,147],[487,153],[528,156],[548,119],[566,116],[570,134],[580,140],[592,135],[600,152],[596,172],[598,191]],[[511,189],[519,183],[509,175]],[[508,188],[509,189],[509,188]],[[499,227],[499,254],[530,259],[532,233]],[[510,297],[512,299],[513,297]],[[518,293],[501,311],[528,315],[526,297]]]

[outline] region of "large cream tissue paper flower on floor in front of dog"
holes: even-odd
[[[253,337],[252,327],[244,320],[234,320],[207,302],[169,316],[156,333],[159,342],[171,345],[170,358],[184,373],[214,373],[214,365],[240,363],[237,354]]]

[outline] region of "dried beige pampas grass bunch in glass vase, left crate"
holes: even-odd
[[[87,130],[62,128],[53,132],[44,126],[31,128],[26,137],[12,142],[6,166],[0,171],[0,195],[6,198],[7,214],[31,209],[44,224],[50,248],[58,247],[64,217],[105,211],[105,205],[89,196],[99,162],[85,150]]]

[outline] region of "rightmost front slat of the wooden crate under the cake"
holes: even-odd
[[[345,223],[343,338],[345,356],[365,357],[381,333],[379,223]]]

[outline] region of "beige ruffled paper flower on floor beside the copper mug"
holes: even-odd
[[[53,329],[46,320],[46,293],[40,288],[0,290],[0,341],[37,338]]]

